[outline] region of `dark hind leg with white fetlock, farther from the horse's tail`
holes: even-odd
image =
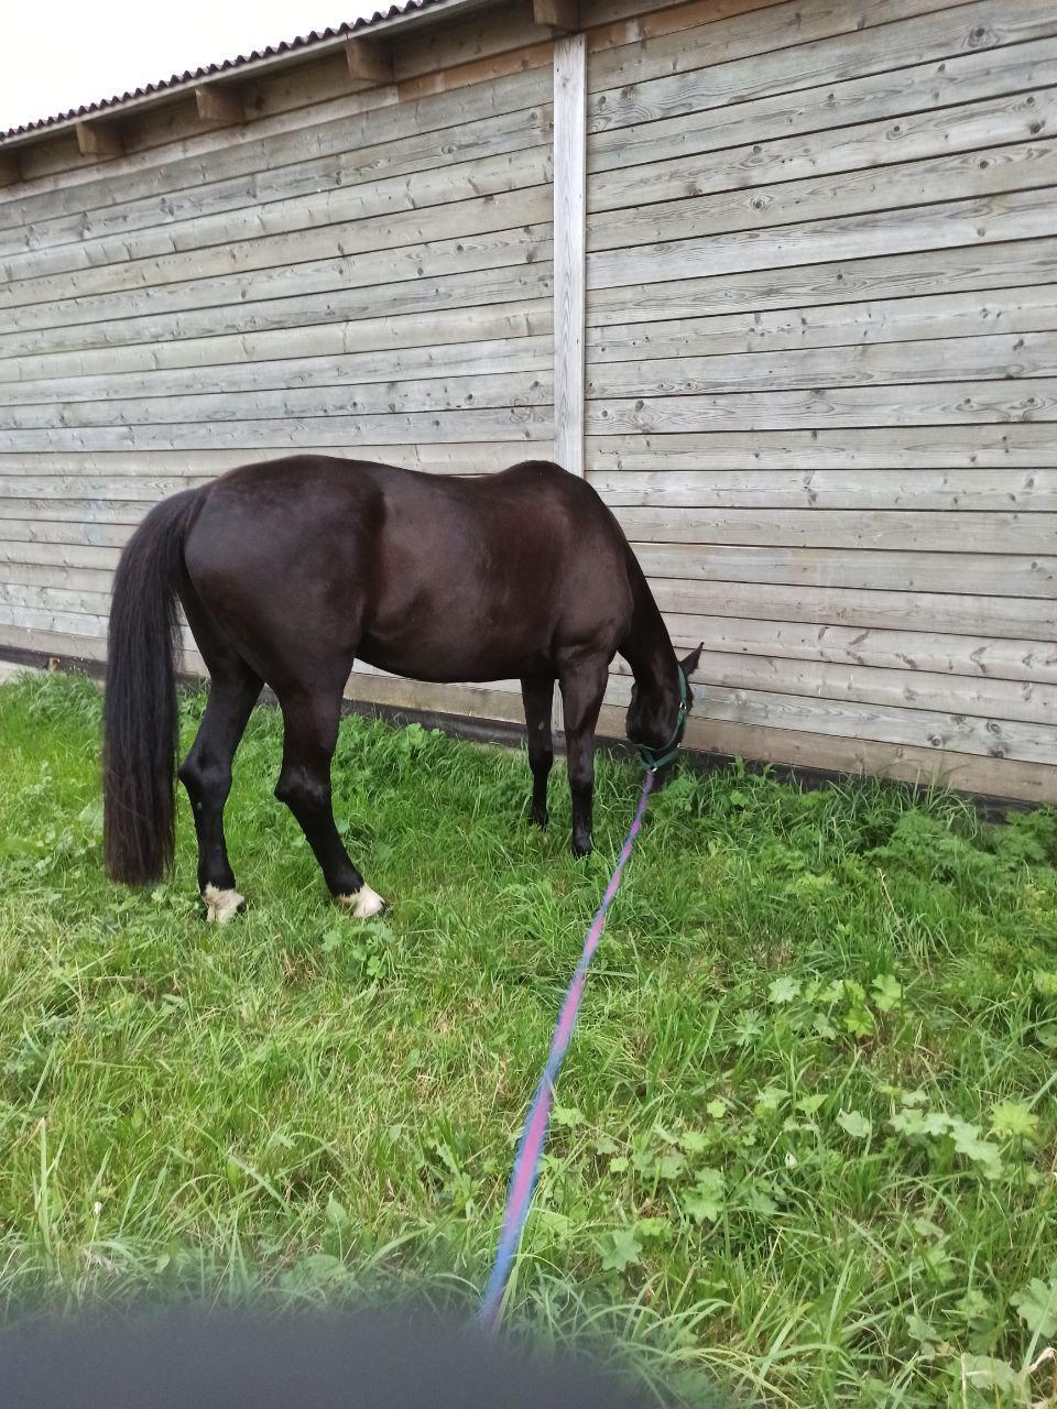
[[[385,900],[375,895],[352,865],[334,826],[330,762],[338,740],[341,686],[286,689],[279,695],[279,704],[285,724],[283,766],[275,796],[300,823],[330,893],[352,906],[359,919],[378,914]]]

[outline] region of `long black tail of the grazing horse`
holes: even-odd
[[[175,844],[179,717],[175,658],[183,544],[202,504],[187,489],[156,504],[114,576],[103,700],[103,859],[125,885],[158,881]]]

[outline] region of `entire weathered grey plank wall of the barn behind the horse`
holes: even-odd
[[[689,740],[1057,800],[1053,0],[579,14],[585,473],[705,641]],[[383,89],[327,56],[244,127],[27,149],[0,648],[99,657],[131,526],[228,465],[552,454],[552,52],[517,0],[407,31]],[[510,682],[351,693],[520,716]]]

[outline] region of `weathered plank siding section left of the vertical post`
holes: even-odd
[[[231,465],[552,452],[551,44],[516,8],[402,38],[392,87],[328,59],[247,127],[144,114],[128,156],[56,147],[3,193],[0,644],[101,658],[121,544]]]

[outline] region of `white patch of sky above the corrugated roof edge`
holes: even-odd
[[[389,0],[0,0],[0,131],[113,97]]]

